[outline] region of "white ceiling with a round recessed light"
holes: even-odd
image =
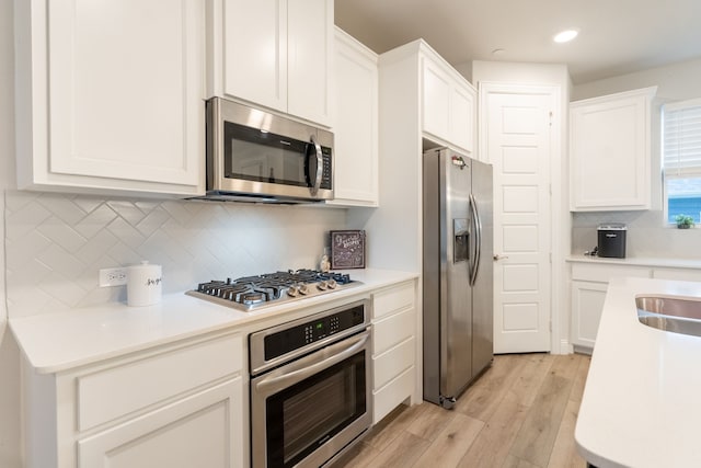
[[[335,0],[335,22],[378,54],[422,37],[453,66],[566,64],[575,84],[701,57],[701,0]]]

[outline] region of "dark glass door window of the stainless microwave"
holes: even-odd
[[[225,122],[225,178],[310,187],[313,145]],[[313,165],[313,167],[311,167]]]

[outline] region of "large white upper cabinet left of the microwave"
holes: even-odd
[[[204,0],[15,10],[20,189],[204,194]]]

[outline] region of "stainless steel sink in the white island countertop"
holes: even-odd
[[[635,298],[637,320],[647,327],[701,336],[701,298],[643,296]]]

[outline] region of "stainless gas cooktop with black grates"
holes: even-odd
[[[238,279],[212,279],[200,283],[187,295],[234,309],[250,311],[265,306],[334,293],[363,283],[347,273],[296,270],[244,276]]]

